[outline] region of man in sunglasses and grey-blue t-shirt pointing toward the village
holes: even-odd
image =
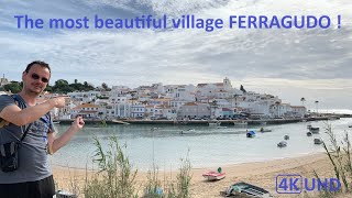
[[[63,135],[55,139],[48,112],[53,108],[63,108],[67,97],[52,98],[37,105],[36,98],[50,78],[48,64],[33,62],[22,73],[23,89],[15,96],[26,108],[21,109],[11,96],[0,96],[0,119],[8,122],[0,128],[0,144],[21,140],[25,131],[23,129],[32,123],[19,148],[19,168],[13,172],[0,170],[0,197],[52,198],[55,186],[47,154],[64,146],[85,124],[78,117]]]

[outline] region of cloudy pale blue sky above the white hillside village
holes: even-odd
[[[21,80],[25,66],[47,62],[52,79],[95,86],[221,82],[272,94],[315,109],[352,109],[352,2],[349,0],[2,0],[1,76]],[[51,30],[18,29],[32,19],[141,15],[201,19],[229,15],[329,15],[330,29]],[[337,15],[341,15],[338,29]],[[46,24],[46,23],[45,23]]]

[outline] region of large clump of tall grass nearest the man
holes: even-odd
[[[134,179],[138,170],[133,170],[129,158],[119,145],[117,136],[111,136],[109,150],[105,151],[95,138],[95,163],[98,164],[97,175],[86,177],[85,197],[90,198],[132,198],[138,197]]]

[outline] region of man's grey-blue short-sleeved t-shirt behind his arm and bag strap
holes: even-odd
[[[16,95],[19,100],[24,100]],[[15,106],[11,96],[0,96],[0,111],[8,106]],[[25,107],[21,107],[22,109]],[[0,128],[0,144],[21,140],[25,127],[9,123]],[[47,157],[47,133],[54,132],[50,113],[33,122],[19,150],[19,169],[10,173],[0,170],[0,184],[13,184],[41,180],[52,175]]]

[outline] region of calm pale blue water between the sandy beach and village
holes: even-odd
[[[319,134],[307,136],[307,124],[320,128]],[[314,144],[315,138],[329,142],[324,133],[331,124],[339,142],[344,131],[351,131],[352,119],[332,121],[298,122],[275,125],[248,125],[218,129],[208,125],[108,125],[99,128],[85,125],[73,140],[52,157],[52,164],[78,168],[97,167],[92,163],[96,151],[94,138],[97,136],[103,148],[108,148],[109,138],[118,136],[124,153],[133,167],[147,170],[156,164],[158,169],[175,170],[182,158],[189,158],[193,168],[218,167],[246,162],[262,162],[284,157],[323,152],[322,145]],[[272,132],[257,132],[255,138],[246,138],[246,130],[261,127]],[[61,135],[68,125],[57,125]],[[191,130],[189,130],[191,129]],[[289,135],[287,147],[279,148],[277,143]]]

